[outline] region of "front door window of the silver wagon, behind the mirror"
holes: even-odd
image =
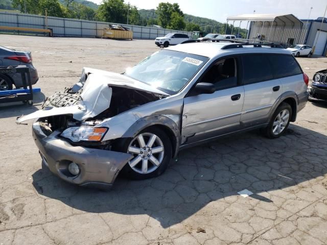
[[[200,82],[212,83],[216,91],[237,86],[237,59],[227,58],[216,62]]]

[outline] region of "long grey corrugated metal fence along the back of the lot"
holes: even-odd
[[[54,36],[57,37],[95,37],[102,36],[103,29],[107,28],[109,22],[89,21],[83,19],[68,19],[34,14],[18,14],[0,12],[0,26],[25,27],[25,28],[52,28]],[[151,27],[132,26],[130,24],[120,24],[133,31],[133,38],[154,39],[158,36],[165,36],[168,33],[178,32],[189,35],[192,32],[157,29]],[[19,32],[21,33],[21,32]],[[19,34],[18,33],[18,34]]]

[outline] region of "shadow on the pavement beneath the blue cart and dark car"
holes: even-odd
[[[23,102],[0,103],[0,118],[27,115],[39,110],[36,106],[40,106],[45,99],[42,92],[33,94],[33,105],[30,106]]]

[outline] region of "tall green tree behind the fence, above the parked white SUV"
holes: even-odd
[[[172,14],[177,13],[179,16],[184,17],[183,12],[180,10],[178,4],[170,4],[170,3],[159,3],[156,14],[158,16],[158,22],[162,28],[167,28],[171,25]],[[179,18],[177,15],[174,15],[174,25],[176,22],[179,22]]]

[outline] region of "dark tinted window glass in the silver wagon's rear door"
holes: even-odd
[[[243,84],[259,83],[272,80],[272,69],[266,55],[244,55]]]

